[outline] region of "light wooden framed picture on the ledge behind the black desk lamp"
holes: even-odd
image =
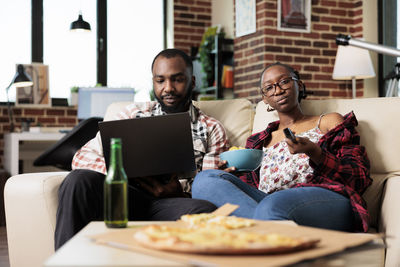
[[[50,106],[49,66],[41,63],[23,64],[25,72],[32,78],[33,85],[17,87],[16,106]]]

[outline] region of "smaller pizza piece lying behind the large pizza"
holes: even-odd
[[[256,221],[236,216],[223,216],[214,213],[186,214],[181,216],[181,221],[192,228],[198,227],[223,227],[226,229],[239,229],[255,225]]]

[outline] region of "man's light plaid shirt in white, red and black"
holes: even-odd
[[[218,169],[219,154],[229,148],[226,133],[222,124],[205,115],[198,108],[190,105],[192,120],[193,148],[197,171]],[[156,102],[132,103],[124,108],[115,119],[130,119],[159,116],[166,114]],[[72,169],[89,169],[103,174],[107,173],[103,157],[100,133],[75,153]],[[193,177],[182,180],[185,192],[190,192]]]

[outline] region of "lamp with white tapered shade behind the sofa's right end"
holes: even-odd
[[[369,52],[353,46],[338,46],[332,78],[351,80],[352,95],[356,98],[356,80],[375,77]]]

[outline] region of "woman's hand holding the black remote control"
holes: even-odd
[[[286,138],[285,141],[290,153],[305,153],[315,164],[320,163],[322,150],[319,145],[311,142],[310,139],[305,137],[296,137],[296,143],[288,138]]]

